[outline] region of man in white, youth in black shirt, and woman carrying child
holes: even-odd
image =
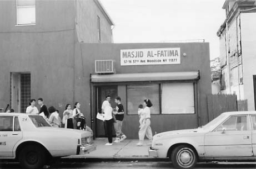
[[[121,103],[121,97],[116,97],[116,108],[111,107],[111,96],[106,96],[106,101],[102,103],[102,111],[101,114],[104,119],[104,123],[106,124],[106,134],[108,137],[108,142],[105,144],[106,146],[113,145],[112,140],[112,128],[114,124],[114,129],[116,130],[116,140],[114,142],[118,143],[126,139],[126,135],[122,132],[123,119],[124,119],[124,108]],[[139,142],[137,146],[144,145],[144,137],[147,136],[149,139],[148,144],[151,144],[153,135],[152,130],[150,128],[150,107],[152,107],[152,103],[149,99],[145,99],[143,104],[140,104],[138,107],[138,115],[139,115]]]

